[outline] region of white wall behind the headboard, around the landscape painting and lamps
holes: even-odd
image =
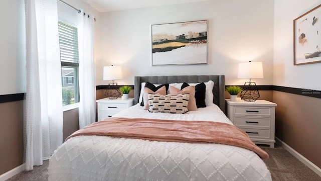
[[[102,13],[96,84],[109,82],[102,80],[102,67],[111,64],[122,66],[125,78],[118,84],[133,84],[133,76],[198,74],[225,74],[227,85],[243,84],[238,63],[251,60],[264,67],[264,78],[253,80],[271,85],[273,13],[270,0],[210,0]],[[151,25],[195,20],[208,20],[208,64],[152,66]]]

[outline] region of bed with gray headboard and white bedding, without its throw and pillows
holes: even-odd
[[[140,106],[145,82],[180,87],[210,81],[213,101],[196,111],[150,113]],[[110,119],[199,120],[235,127],[224,115],[224,75],[136,76],[134,83],[134,106]],[[48,171],[49,180],[271,180],[259,154],[244,147],[86,134],[67,139],[50,158]]]

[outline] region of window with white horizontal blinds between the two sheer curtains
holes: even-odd
[[[63,106],[79,102],[77,28],[58,22]]]

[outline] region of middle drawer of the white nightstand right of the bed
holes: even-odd
[[[246,126],[256,128],[270,128],[271,118],[270,117],[234,117],[235,126]]]

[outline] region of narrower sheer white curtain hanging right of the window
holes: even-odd
[[[78,14],[79,47],[79,128],[96,121],[94,18]]]

